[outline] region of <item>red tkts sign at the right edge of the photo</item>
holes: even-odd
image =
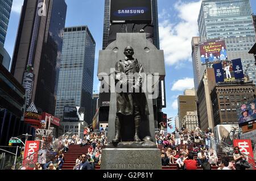
[[[234,147],[238,146],[241,153],[249,155],[246,160],[251,163],[255,167],[254,156],[253,156],[253,148],[251,146],[251,140],[233,140]]]

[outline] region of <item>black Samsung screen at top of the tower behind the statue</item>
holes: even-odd
[[[118,22],[151,22],[151,0],[111,0],[110,21]]]

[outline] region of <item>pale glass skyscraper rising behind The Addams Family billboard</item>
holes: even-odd
[[[225,39],[229,60],[242,58],[243,69],[256,83],[254,57],[247,52],[255,43],[250,0],[203,1],[198,18],[201,41]]]

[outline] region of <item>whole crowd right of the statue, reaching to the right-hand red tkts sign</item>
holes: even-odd
[[[162,166],[175,165],[177,169],[196,170],[197,166],[203,170],[211,170],[213,166],[218,170],[245,170],[250,165],[246,162],[246,157],[238,147],[234,148],[233,159],[228,155],[221,158],[220,164],[217,152],[212,146],[214,134],[208,129],[202,132],[200,128],[189,132],[183,128],[181,131],[176,128],[175,132],[156,134],[156,144],[163,145],[161,151]],[[181,144],[182,142],[182,144]],[[193,145],[193,149],[188,150],[188,145]]]

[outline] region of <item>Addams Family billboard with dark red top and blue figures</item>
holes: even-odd
[[[201,63],[208,64],[215,61],[228,59],[226,44],[224,40],[209,40],[201,42],[200,45]]]

